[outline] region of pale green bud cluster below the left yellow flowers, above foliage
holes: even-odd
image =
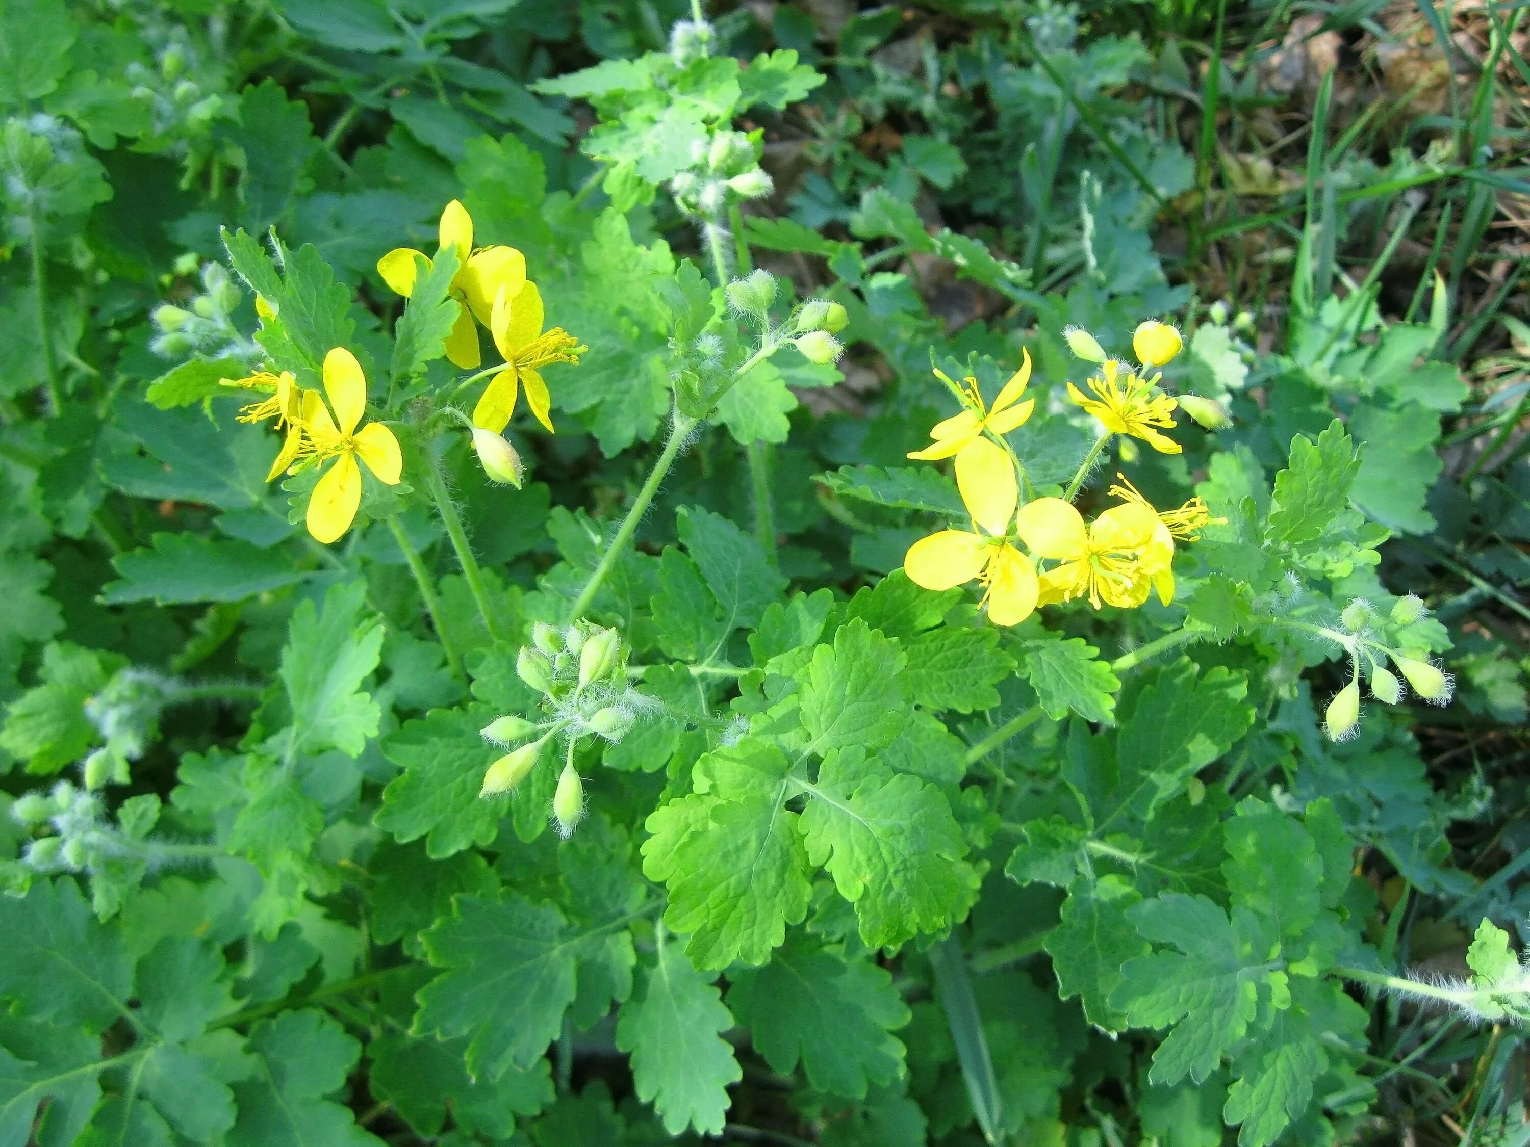
[[[620,742],[656,702],[627,681],[621,633],[586,621],[558,630],[537,622],[532,644],[516,658],[516,673],[543,696],[545,720],[516,714],[482,729],[483,739],[508,749],[483,774],[480,797],[509,792],[536,768],[549,740],[562,737],[569,754],[552,795],[552,823],[569,837],[584,817],[584,781],[572,748],[581,737]]]

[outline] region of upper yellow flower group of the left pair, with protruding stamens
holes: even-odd
[[[473,410],[473,425],[496,434],[509,425],[520,390],[526,392],[526,405],[537,422],[552,433],[548,411],[552,399],[542,378],[542,367],[551,362],[578,362],[584,347],[563,327],[543,330],[542,292],[526,278],[526,257],[513,246],[485,246],[473,249],[473,217],[456,199],[441,213],[441,249],[451,248],[457,255],[457,274],[451,278],[451,298],[461,310],[447,340],[447,358],[464,370],[474,370],[482,362],[479,355],[477,320],[488,327],[494,347],[503,356],[500,369],[491,367],[494,378],[483,390]],[[431,262],[413,248],[401,246],[378,260],[378,274],[393,291],[409,298],[415,294],[415,280],[424,260],[428,271]]]

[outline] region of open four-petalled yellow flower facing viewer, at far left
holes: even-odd
[[[311,402],[303,404],[303,427],[314,444],[320,463],[335,459],[308,503],[308,532],[329,543],[341,537],[356,517],[361,505],[361,468],[356,459],[367,463],[379,482],[396,486],[404,470],[404,457],[393,431],[381,422],[369,422],[356,430],[367,408],[367,379],[361,373],[356,356],[344,347],[335,347],[324,355],[324,393],[335,416],[317,392],[308,392]]]

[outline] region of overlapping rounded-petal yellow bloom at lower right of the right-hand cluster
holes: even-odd
[[[1149,587],[1174,599],[1174,537],[1151,506],[1128,502],[1085,525],[1073,503],[1036,499],[1021,506],[1016,529],[1034,557],[1060,563],[1037,578],[1042,606],[1088,595],[1095,609],[1131,609]]]

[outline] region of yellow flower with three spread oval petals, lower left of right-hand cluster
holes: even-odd
[[[924,589],[952,589],[979,578],[982,604],[996,625],[1017,625],[1036,610],[1036,567],[1008,543],[1021,491],[1014,463],[984,437],[956,454],[956,486],[975,529],[942,529],[920,538],[903,560],[909,580]]]

